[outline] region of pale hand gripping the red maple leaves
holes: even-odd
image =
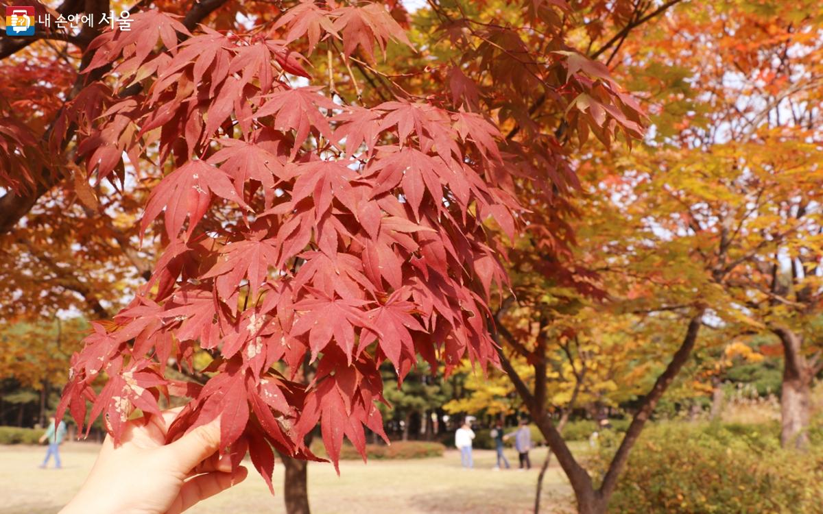
[[[118,447],[105,438],[100,455],[77,495],[60,514],[179,514],[202,499],[239,484],[248,470],[231,470],[216,453],[219,419],[164,444],[179,409],[162,417],[130,421]]]

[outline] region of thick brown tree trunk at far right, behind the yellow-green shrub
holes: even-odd
[[[814,372],[802,354],[802,336],[788,328],[774,333],[783,344],[783,384],[780,393],[780,444],[805,450],[809,444],[811,380]]]

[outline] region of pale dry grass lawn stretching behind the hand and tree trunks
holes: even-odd
[[[52,514],[72,498],[95,461],[98,447],[70,442],[61,448],[63,470],[40,470],[45,447],[0,446],[0,514]],[[532,512],[537,468],[546,449],[532,451],[532,470],[495,471],[495,452],[476,450],[475,469],[462,470],[460,456],[409,461],[342,461],[309,464],[309,500],[315,514],[416,514],[429,512]],[[509,450],[509,461],[517,454]],[[542,512],[570,512],[571,489],[556,462],[546,473]],[[191,514],[285,512],[283,468],[275,466],[277,496],[272,498],[250,462],[249,478],[226,493],[198,504]]]

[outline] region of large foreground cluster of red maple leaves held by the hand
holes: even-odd
[[[325,31],[365,53],[366,37],[405,40],[383,7],[320,11],[286,13],[286,38],[315,44]],[[142,220],[167,243],[151,280],[95,324],[60,410],[82,424],[91,401],[89,424],[102,414],[116,442],[133,408],[189,396],[170,440],[222,414],[222,446],[237,458],[249,447],[269,483],[272,447],[314,458],[304,438],[318,423],[335,462],[344,435],[363,453],[364,425],[383,433],[387,359],[401,379],[418,355],[447,372],[465,357],[496,363],[487,303],[505,276],[484,221],[513,238],[517,208],[501,187],[499,133],[480,115],[336,104],[292,86],[309,73],[276,34],[191,35],[173,16],[138,13],[130,32],[91,44],[86,71],[113,66],[109,83],[87,86],[58,123],[77,125],[98,178],[123,152],[173,169]],[[142,92],[122,94],[133,85]],[[205,370],[193,369],[198,349],[214,358]],[[167,362],[209,379],[170,380]]]

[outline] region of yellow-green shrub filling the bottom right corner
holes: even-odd
[[[783,451],[775,427],[664,423],[632,451],[609,512],[823,512],[823,449]],[[596,468],[616,449],[602,439]]]

